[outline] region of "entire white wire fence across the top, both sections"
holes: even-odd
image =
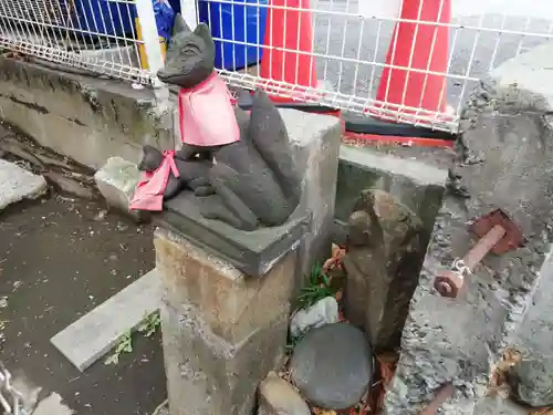
[[[419,10],[425,2],[441,1],[440,13],[448,7],[447,0],[404,1],[410,4],[418,1]],[[520,0],[451,0],[452,19],[441,23],[425,21],[420,12],[416,19],[400,19],[404,7],[400,0],[180,2],[189,23],[205,21],[210,25],[217,41],[219,72],[232,86],[250,90],[262,86],[284,97],[357,114],[377,111],[387,120],[431,125],[448,132],[457,129],[461,107],[481,77],[499,63],[553,37],[553,2],[544,0],[523,3]],[[290,6],[292,2],[303,6]],[[94,9],[93,3],[103,6],[96,8],[95,13],[83,12],[84,8]],[[294,54],[294,42],[285,46],[272,44],[271,37],[264,35],[271,8],[284,10],[284,21],[272,22],[273,28],[279,28],[273,31],[282,30],[284,33],[279,34],[298,39],[295,44],[302,41],[303,31],[290,28],[286,15],[298,11],[309,13],[313,31],[311,48]],[[138,40],[134,24],[137,15],[143,40]],[[415,33],[429,24],[448,28],[447,68],[436,71],[430,65],[390,65],[386,55],[398,22],[411,23]],[[117,29],[122,25],[123,30]],[[290,30],[292,34],[286,33]],[[163,65],[152,0],[0,0],[0,46],[144,84],[155,82],[155,73]],[[140,46],[146,51],[145,63],[140,61]],[[435,42],[430,42],[430,55],[436,52],[434,46]],[[305,71],[306,65],[305,61],[300,64],[298,56],[307,55],[316,68],[316,77],[324,82],[305,85],[298,82],[298,76],[286,82],[271,79],[271,73],[261,76],[263,72],[258,62],[269,68],[275,65],[268,62],[271,50],[293,56],[300,66],[296,73]],[[405,71],[407,76],[441,76],[448,107],[408,106],[405,102],[389,103],[386,97],[377,101],[385,68]],[[409,90],[409,94],[413,93]],[[422,92],[420,94],[422,96]]]

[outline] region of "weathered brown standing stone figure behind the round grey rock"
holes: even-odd
[[[383,190],[364,190],[349,216],[345,314],[375,351],[399,346],[425,256],[422,224]]]

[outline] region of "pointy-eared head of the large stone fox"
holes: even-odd
[[[160,81],[186,89],[195,87],[215,69],[215,43],[209,28],[200,23],[191,31],[177,14],[165,66],[157,73]]]

